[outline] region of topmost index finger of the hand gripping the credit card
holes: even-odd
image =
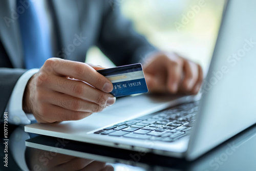
[[[93,87],[106,93],[110,93],[113,90],[113,84],[86,63],[50,58],[46,60],[42,70],[44,70],[44,67],[47,68],[47,66],[57,66],[53,68],[57,75],[86,81]]]

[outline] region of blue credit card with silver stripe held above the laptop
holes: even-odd
[[[113,84],[111,94],[115,97],[148,92],[146,80],[140,63],[97,70]]]

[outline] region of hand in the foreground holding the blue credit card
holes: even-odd
[[[41,123],[79,120],[115,103],[113,84],[96,66],[50,58],[29,80],[23,110]]]

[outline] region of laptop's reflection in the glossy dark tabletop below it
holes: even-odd
[[[79,170],[83,167],[81,170],[254,170],[255,142],[256,125],[253,125],[189,162],[151,153],[36,136],[26,141],[26,159],[31,169],[38,168],[33,170]]]

